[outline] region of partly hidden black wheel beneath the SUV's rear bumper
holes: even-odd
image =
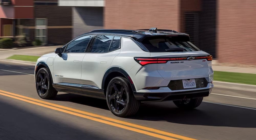
[[[178,108],[183,109],[193,109],[198,107],[202,103],[203,97],[200,98],[193,98],[193,99],[184,99],[184,100],[175,100],[173,103]]]

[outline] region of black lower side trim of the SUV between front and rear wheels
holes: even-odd
[[[53,84],[54,88],[60,92],[67,92],[79,94],[84,96],[106,98],[104,91],[92,85],[71,84],[71,83],[57,83]]]

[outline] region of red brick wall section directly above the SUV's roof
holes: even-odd
[[[105,29],[179,30],[180,0],[106,0]]]

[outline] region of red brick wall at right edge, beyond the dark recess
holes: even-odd
[[[256,65],[256,1],[219,0],[218,59]]]

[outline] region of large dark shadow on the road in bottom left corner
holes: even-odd
[[[107,139],[90,128],[79,129],[0,101],[0,139]],[[55,118],[53,116],[53,118]],[[56,118],[55,118],[56,119]]]

